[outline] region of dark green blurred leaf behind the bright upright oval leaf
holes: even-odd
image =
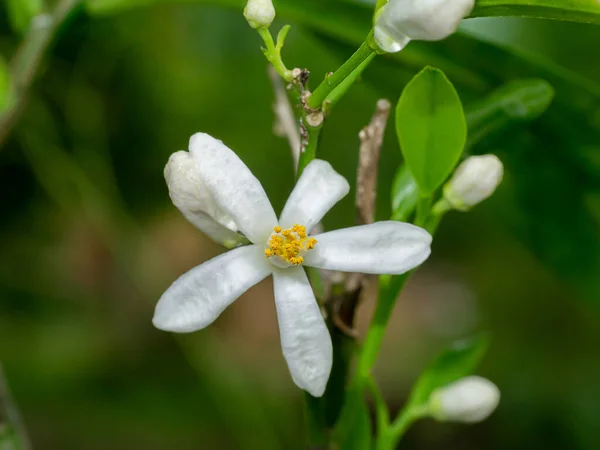
[[[493,133],[506,133],[511,124],[537,119],[553,98],[554,89],[547,81],[526,79],[506,83],[482,100],[472,102],[465,108],[467,149]]]

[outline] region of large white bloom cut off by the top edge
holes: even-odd
[[[389,0],[375,20],[375,41],[389,53],[411,40],[439,41],[454,33],[475,0]]]

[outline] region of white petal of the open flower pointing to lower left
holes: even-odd
[[[230,250],[179,277],[158,301],[152,322],[179,333],[204,328],[271,270],[261,246]]]

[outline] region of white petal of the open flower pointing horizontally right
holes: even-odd
[[[429,256],[431,235],[402,222],[376,222],[314,236],[317,245],[306,252],[307,266],[342,272],[401,274]]]

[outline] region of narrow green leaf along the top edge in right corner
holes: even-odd
[[[597,0],[478,0],[471,17],[534,17],[600,24]]]

